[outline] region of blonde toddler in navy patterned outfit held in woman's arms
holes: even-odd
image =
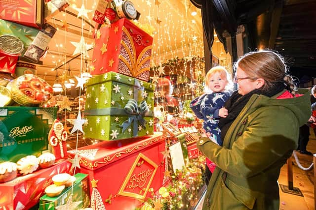
[[[190,103],[190,108],[197,118],[204,120],[205,135],[220,146],[223,145],[223,141],[218,122],[220,118],[226,118],[228,115],[224,103],[231,95],[232,81],[230,78],[224,67],[211,68],[205,76],[206,93]],[[215,164],[206,158],[206,166],[205,182],[208,183],[211,173],[215,169]]]

